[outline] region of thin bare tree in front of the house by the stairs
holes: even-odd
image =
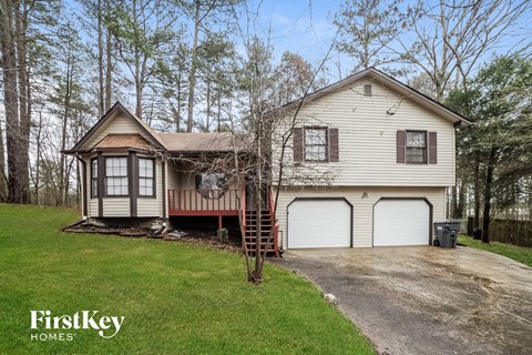
[[[295,183],[296,181],[324,184],[330,182],[331,172],[318,173],[319,169],[311,164],[294,164],[287,160],[287,151],[293,145],[294,132],[301,124],[299,112],[305,103],[305,98],[314,87],[317,74],[320,72],[325,62],[328,60],[332,51],[338,33],[332,40],[327,54],[320,64],[311,71],[305,70],[300,72],[300,78],[296,82],[305,83],[301,87],[303,95],[295,105],[285,110],[276,108],[276,91],[279,89],[275,81],[275,73],[270,67],[272,47],[268,41],[262,41],[256,36],[250,34],[250,27],[255,24],[252,11],[247,11],[248,24],[246,30],[239,28],[241,36],[246,48],[246,63],[242,89],[245,92],[245,111],[247,128],[252,143],[252,150],[246,161],[246,165],[238,166],[238,171],[244,172],[247,190],[252,193],[250,200],[253,210],[255,210],[256,239],[254,247],[249,251],[246,245],[246,235],[243,233],[243,247],[245,251],[245,261],[247,277],[249,282],[255,284],[262,283],[263,267],[268,250],[274,242],[275,226],[267,227],[263,224],[263,210],[269,210],[275,217],[280,186],[286,182],[286,176]],[[297,75],[298,73],[294,73]],[[306,75],[309,74],[308,78]],[[282,84],[286,82],[282,81]],[[294,87],[294,92],[301,87]],[[287,171],[290,173],[287,174]],[[276,187],[275,197],[272,195],[272,189]],[[242,220],[246,216],[241,216]],[[275,221],[270,221],[274,223]],[[264,241],[263,230],[267,231],[267,237]]]

